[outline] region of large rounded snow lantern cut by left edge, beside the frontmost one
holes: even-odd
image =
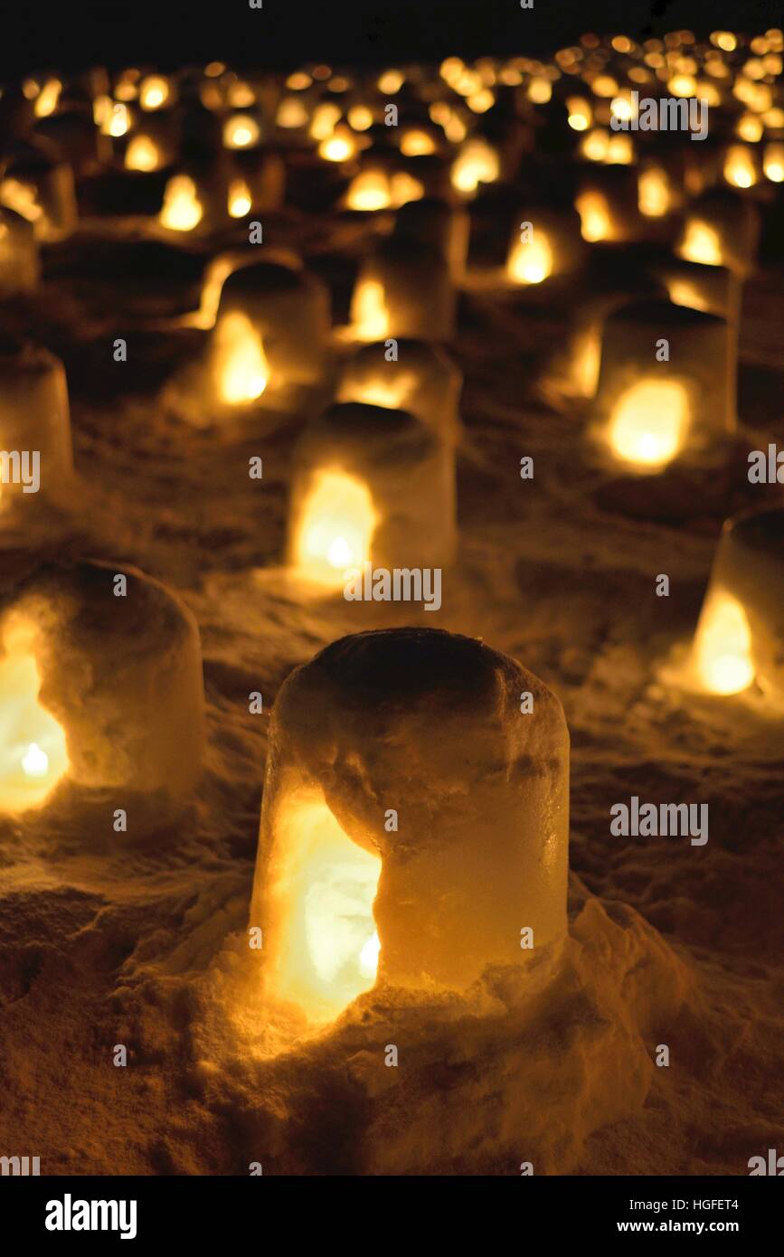
[[[0,566],[0,810],[41,806],[65,779],[95,792],[107,836],[113,808],[129,838],[162,827],[204,752],[192,615],[136,568],[11,567],[3,578]]]

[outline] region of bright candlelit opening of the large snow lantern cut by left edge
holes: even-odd
[[[6,632],[0,660],[0,808],[40,807],[68,771],[65,733],[38,701],[40,675],[30,632]]]

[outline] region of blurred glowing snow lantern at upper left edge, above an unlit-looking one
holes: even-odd
[[[43,141],[19,146],[0,178],[0,205],[31,222],[38,240],[65,239],[78,221],[70,166]]]

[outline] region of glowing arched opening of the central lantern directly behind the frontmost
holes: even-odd
[[[371,557],[377,517],[367,485],[344,471],[319,471],[305,500],[294,564],[309,581],[339,587]]]

